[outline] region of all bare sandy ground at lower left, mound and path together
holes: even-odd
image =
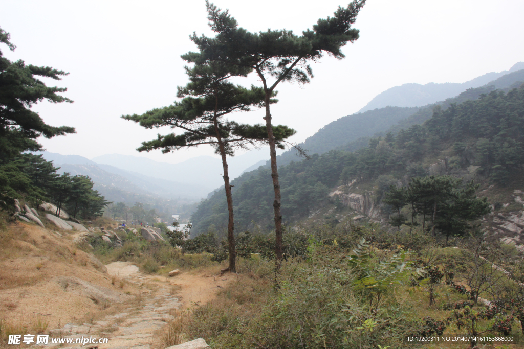
[[[76,231],[17,223],[7,234],[12,239],[0,237],[0,318],[26,333],[37,333],[40,318],[50,337],[110,338],[99,349],[159,347],[173,314],[213,300],[235,278],[220,276],[220,266],[174,277],[145,275],[130,262],[104,266],[77,249]]]

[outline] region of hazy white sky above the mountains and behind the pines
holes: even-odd
[[[215,4],[230,9],[248,30],[297,33],[347,5],[340,0]],[[41,140],[48,151],[88,158],[141,155],[172,163],[212,154],[211,148],[139,154],[135,148],[158,131],[119,118],[175,100],[176,87],[187,83],[180,54],[195,49],[189,35],[212,35],[203,0],[2,0],[0,8],[0,27],[17,46],[14,52],[2,47],[7,58],[70,72],[58,86],[68,88],[64,96],[74,103],[34,108],[50,125],[77,128],[77,134]],[[368,0],[355,23],[361,37],[344,48],[346,59],[325,57],[313,64],[311,84],[281,84],[274,121],[296,129],[292,141],[301,142],[390,87],[462,83],[508,70],[524,60],[522,18],[522,0]],[[258,82],[254,77],[244,81],[251,83]],[[255,111],[238,117],[257,123],[262,116]]]

